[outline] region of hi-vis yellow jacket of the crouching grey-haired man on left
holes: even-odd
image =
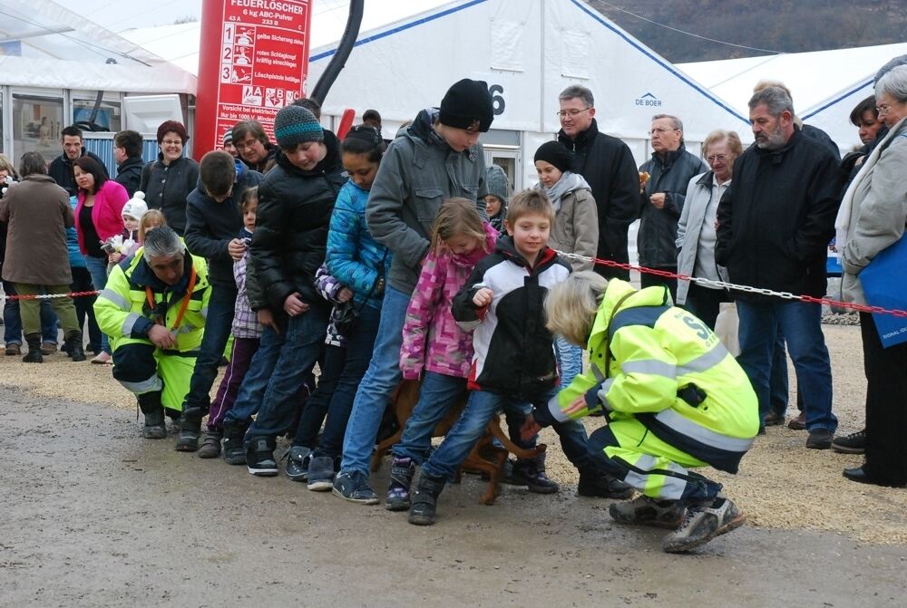
[[[107,286],[94,303],[98,326],[110,336],[113,350],[130,343],[150,343],[148,330],[160,318],[164,307],[167,312],[163,322],[168,329],[174,330],[194,265],[195,285],[189,294],[189,303],[185,306],[180,325],[175,328],[177,348],[174,354],[197,351],[205,329],[211,294],[207,263],[204,258],[186,252],[182,279],[171,287],[154,275],[151,266],[141,256],[142,251],[140,247],[133,256],[114,266],[107,277]],[[151,288],[153,309],[148,302],[146,287]]]

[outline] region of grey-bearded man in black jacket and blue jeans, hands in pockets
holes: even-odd
[[[822,297],[825,258],[839,202],[838,159],[795,125],[790,96],[766,87],[749,101],[756,145],[734,163],[717,212],[715,261],[732,283]],[[832,371],[822,333],[822,308],[797,300],[736,294],[740,356],[760,419],[769,409],[769,372],[776,328],[787,339],[803,395],[806,447],[831,446]]]

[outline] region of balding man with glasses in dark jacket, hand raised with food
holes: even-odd
[[[657,114],[652,117],[652,158],[639,168],[649,173],[639,202],[639,265],[647,268],[678,271],[678,220],[687,198],[689,180],[708,170],[708,165],[684,147],[683,123],[677,116]],[[664,285],[671,300],[677,298],[676,278],[649,275],[640,277],[643,287]]]

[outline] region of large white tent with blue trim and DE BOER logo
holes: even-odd
[[[348,2],[316,0],[308,86],[324,72],[346,24]],[[191,71],[200,24],[123,33]],[[560,129],[557,96],[574,83],[596,94],[602,131],[649,156],[656,113],[678,115],[688,142],[710,130],[743,130],[744,117],[580,0],[411,0],[366,2],[356,47],[328,93],[323,121],[346,108],[381,112],[385,137],[447,87],[469,77],[488,82],[498,114],[483,136],[489,159],[517,188],[535,180],[532,154]],[[695,151],[695,148],[693,148]]]

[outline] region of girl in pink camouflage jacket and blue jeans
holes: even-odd
[[[473,267],[494,250],[497,231],[479,217],[475,204],[449,198],[438,209],[432,246],[406,309],[400,370],[404,380],[422,377],[419,401],[394,446],[386,507],[409,508],[416,464],[428,458],[432,430],[466,390],[473,360],[473,336],[453,320],[451,303]]]

